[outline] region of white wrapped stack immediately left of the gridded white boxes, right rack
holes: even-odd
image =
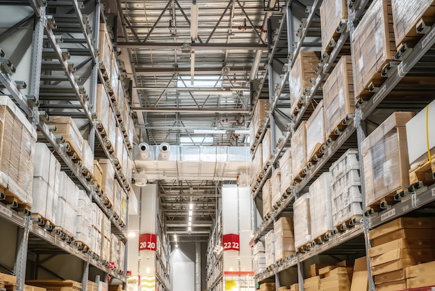
[[[311,220],[311,237],[324,239],[324,235],[334,228],[331,203],[331,173],[325,172],[309,187]]]

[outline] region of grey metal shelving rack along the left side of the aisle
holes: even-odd
[[[97,91],[97,83],[105,84],[104,88],[109,93],[109,85],[105,82],[104,74],[99,68],[98,58],[98,43],[99,43],[99,24],[104,22],[104,12],[101,10],[100,1],[91,1],[90,3],[82,3],[76,0],[68,1],[42,1],[42,0],[29,0],[29,1],[5,1],[0,5],[11,6],[14,9],[22,9],[23,13],[29,13],[29,9],[33,10],[30,17],[35,17],[35,22],[31,29],[33,30],[33,42],[31,47],[31,63],[28,63],[28,70],[31,72],[28,78],[29,88],[28,95],[24,95],[20,89],[25,88],[22,81],[14,81],[12,74],[15,72],[13,64],[8,60],[7,56],[2,56],[0,81],[4,88],[10,94],[10,97],[18,104],[18,106],[26,113],[28,119],[33,126],[40,132],[38,141],[46,143],[49,148],[55,153],[56,157],[62,164],[62,171],[70,173],[74,182],[79,185],[81,189],[88,192],[97,205],[103,210],[107,217],[110,218],[112,224],[112,233],[117,235],[119,239],[126,242],[126,226],[128,219],[125,223],[115,217],[113,210],[110,206],[104,203],[100,197],[101,191],[95,187],[95,184],[89,179],[88,176],[83,174],[83,168],[80,164],[76,164],[67,151],[67,144],[62,136],[56,136],[52,130],[54,127],[47,125],[49,114],[47,111],[50,109],[63,109],[63,115],[72,116],[72,118],[84,118],[89,123],[90,129],[88,132],[88,143],[90,148],[95,152],[95,157],[104,157],[110,159],[115,169],[115,178],[118,180],[123,190],[127,194],[126,207],[128,212],[128,196],[131,194],[131,187],[129,181],[126,179],[121,169],[117,165],[117,161],[111,158],[111,150],[104,146],[104,139],[101,133],[95,129],[95,119],[93,111],[95,110],[95,95]],[[69,8],[68,13],[59,17],[58,25],[56,25],[56,14],[49,15],[47,12],[56,12],[54,6],[63,6],[62,8]],[[82,10],[90,11],[90,15],[83,15]],[[34,16],[33,16],[34,15]],[[60,16],[60,15],[58,15]],[[90,16],[90,17],[88,17]],[[20,19],[18,19],[20,20]],[[56,32],[56,29],[58,30]],[[64,31],[62,31],[64,29]],[[60,32],[59,32],[60,31]],[[69,37],[62,39],[59,33],[67,32]],[[61,43],[76,43],[81,46],[79,49],[65,49],[61,47]],[[43,49],[43,44],[49,44],[47,49]],[[83,67],[86,64],[90,67],[85,70],[85,79],[89,79],[89,92],[88,95],[83,90],[83,86],[79,86],[79,77],[74,76],[74,64],[68,61],[72,55],[86,57],[83,63],[79,64],[76,68]],[[42,61],[43,59],[51,59],[52,61]],[[90,65],[89,65],[90,64]],[[21,64],[20,64],[21,65]],[[22,65],[24,66],[24,65]],[[79,68],[80,70],[81,68]],[[63,70],[64,74],[42,75],[41,70]],[[82,71],[83,72],[83,71]],[[86,74],[90,74],[88,77]],[[47,86],[47,81],[53,81],[53,84],[59,84],[61,81],[67,81],[69,86]],[[60,90],[63,90],[62,92]],[[40,98],[40,92],[60,93],[67,96],[64,100],[76,100],[76,104],[47,104]],[[71,103],[71,102],[70,102]],[[110,108],[115,111],[113,103]],[[58,112],[60,113],[60,112]],[[115,113],[115,112],[114,112]],[[116,120],[117,125],[121,125],[122,120]],[[131,157],[131,146],[129,155]],[[83,290],[86,289],[86,282],[88,281],[90,266],[95,267],[99,271],[97,274],[102,275],[102,278],[110,276],[117,278],[123,283],[126,282],[124,275],[125,266],[121,269],[110,269],[107,262],[97,258],[93,253],[85,252],[83,249],[68,241],[59,233],[51,232],[49,229],[44,228],[42,224],[32,223],[30,213],[26,208],[25,212],[15,210],[15,207],[10,207],[1,203],[0,201],[0,219],[9,221],[17,226],[18,239],[16,242],[17,249],[15,250],[16,260],[10,265],[14,269],[9,269],[2,266],[2,269],[7,269],[17,276],[17,285],[19,290],[24,290],[24,280],[26,278],[26,265],[27,254],[33,251],[40,251],[40,246],[44,246],[42,253],[53,254],[69,254],[75,258],[83,261]],[[35,249],[34,249],[35,248]],[[38,255],[36,256],[38,257]],[[36,262],[38,264],[38,262]],[[107,276],[106,276],[107,275]],[[166,288],[167,290],[167,288]]]

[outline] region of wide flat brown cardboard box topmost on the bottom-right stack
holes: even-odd
[[[375,239],[402,228],[435,228],[435,218],[400,217],[370,230],[368,232],[368,237],[369,239]]]

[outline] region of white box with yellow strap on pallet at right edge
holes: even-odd
[[[435,101],[409,120],[406,127],[409,165],[415,168],[428,162],[429,155],[435,155]]]

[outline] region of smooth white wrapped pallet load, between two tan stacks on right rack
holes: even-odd
[[[325,143],[325,116],[323,112],[323,100],[315,107],[306,127],[306,160],[311,161],[322,144]]]

